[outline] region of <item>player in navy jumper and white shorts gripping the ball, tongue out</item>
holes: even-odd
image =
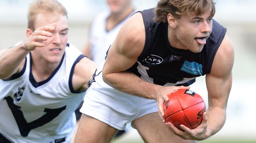
[[[217,133],[226,119],[234,49],[214,14],[212,0],[160,0],[131,16],[93,75],[75,142],[110,142],[129,122],[146,143],[191,143]],[[192,130],[181,125],[184,132],[165,123],[167,95],[203,75],[209,108],[202,123]]]

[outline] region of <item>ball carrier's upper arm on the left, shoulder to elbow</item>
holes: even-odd
[[[142,53],[145,28],[140,13],[134,14],[121,27],[111,45],[103,68],[103,75],[122,72],[133,66]]]

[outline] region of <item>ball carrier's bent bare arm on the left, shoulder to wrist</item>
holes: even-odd
[[[108,51],[103,67],[103,80],[120,91],[156,100],[158,85],[141,80],[135,74],[126,71],[138,60],[144,43],[145,28],[142,15],[136,13],[120,29]]]

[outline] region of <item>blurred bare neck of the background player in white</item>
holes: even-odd
[[[119,13],[111,13],[110,16],[107,19],[106,29],[107,31],[110,31],[113,29],[116,25],[118,25],[120,22],[122,22],[129,14],[131,14],[134,11],[133,7],[127,7],[120,11]]]

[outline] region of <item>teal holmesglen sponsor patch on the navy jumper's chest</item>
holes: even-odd
[[[202,65],[196,62],[188,62],[185,61],[181,67],[181,71],[185,71],[189,74],[194,74],[198,75],[200,74],[202,76],[203,71],[202,71]]]

